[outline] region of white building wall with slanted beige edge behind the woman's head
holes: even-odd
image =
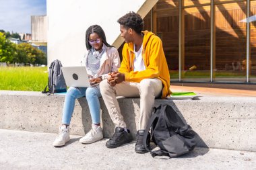
[[[145,17],[157,1],[47,0],[48,65],[55,59],[63,66],[80,65],[86,52],[86,30],[94,24],[103,28],[109,44],[119,47],[123,40],[117,19],[129,11]]]

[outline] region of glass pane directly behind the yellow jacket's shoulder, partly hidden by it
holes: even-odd
[[[179,0],[160,0],[156,4],[157,33],[164,47],[170,80],[179,80]]]

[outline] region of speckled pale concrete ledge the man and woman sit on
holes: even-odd
[[[46,96],[40,92],[0,91],[0,128],[34,132],[58,132],[64,96]],[[196,100],[161,100],[182,114],[185,121],[199,134],[198,146],[256,151],[256,97],[200,96]],[[115,128],[102,106],[104,136]],[[119,98],[119,104],[133,137],[139,119],[139,99]],[[85,98],[75,103],[71,134],[84,135],[92,120]]]

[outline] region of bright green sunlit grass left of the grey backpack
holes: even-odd
[[[0,67],[0,90],[42,91],[47,83],[47,67]]]

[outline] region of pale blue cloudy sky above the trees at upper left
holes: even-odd
[[[46,15],[46,0],[0,0],[0,30],[31,33],[31,15]]]

